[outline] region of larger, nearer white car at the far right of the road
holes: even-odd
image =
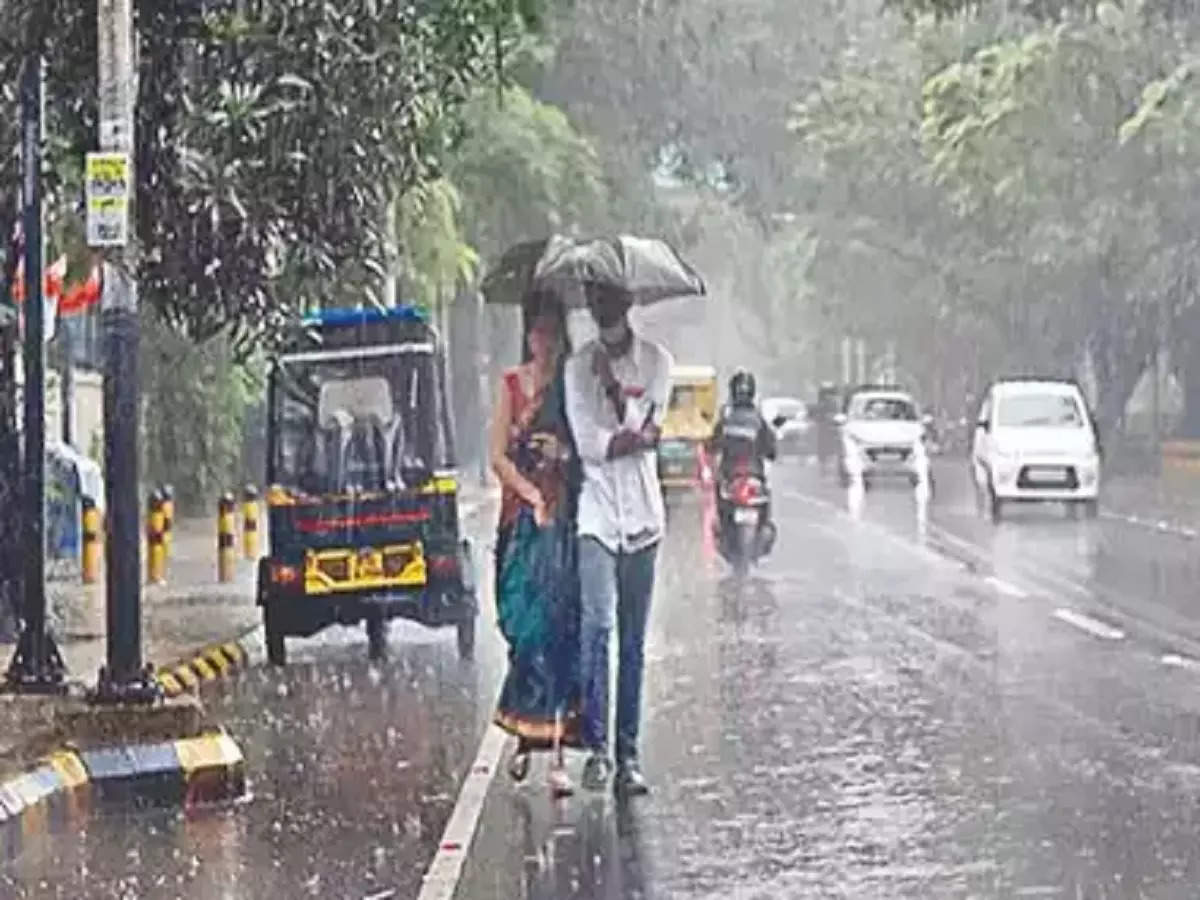
[[[994,520],[1020,500],[1064,502],[1096,516],[1100,446],[1079,386],[1055,379],[994,384],[979,408],[971,469]]]

